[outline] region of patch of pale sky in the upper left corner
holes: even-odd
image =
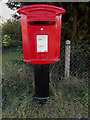
[[[16,12],[16,10],[11,10],[10,8],[8,8],[8,6],[5,4],[7,2],[8,0],[0,0],[0,24],[3,21],[6,22],[7,19],[12,18],[12,14]]]

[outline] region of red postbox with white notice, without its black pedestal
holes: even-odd
[[[24,62],[49,64],[60,60],[61,19],[65,9],[30,5],[21,14]]]

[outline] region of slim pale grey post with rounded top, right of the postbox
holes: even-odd
[[[65,79],[70,78],[70,40],[65,43]]]

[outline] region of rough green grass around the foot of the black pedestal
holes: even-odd
[[[57,83],[51,73],[50,99],[40,104],[34,99],[33,65],[22,62],[22,52],[16,48],[4,49],[2,57],[3,118],[88,117],[87,84],[76,84],[75,79]]]

